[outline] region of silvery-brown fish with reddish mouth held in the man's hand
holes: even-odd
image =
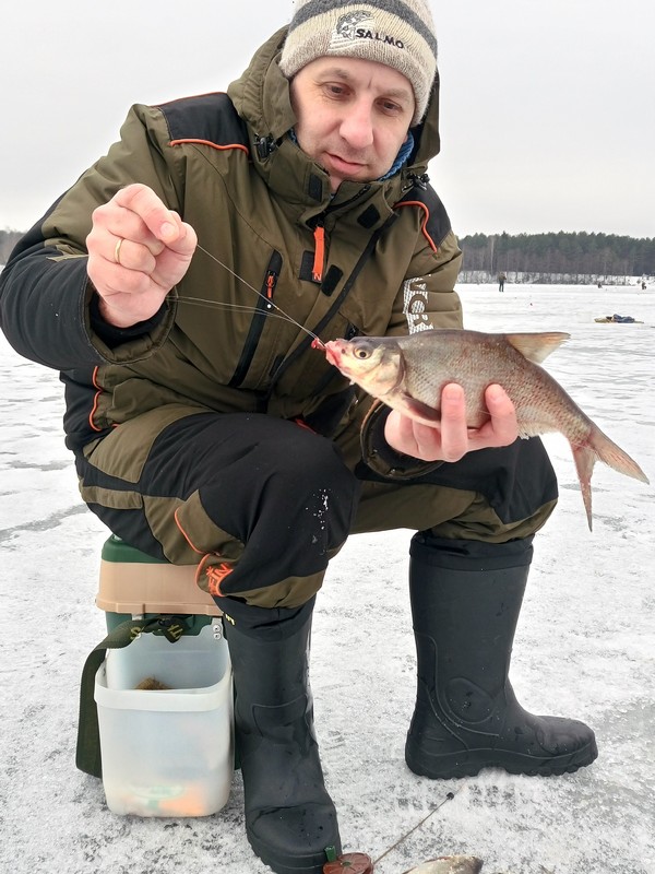
[[[397,338],[331,340],[324,351],[331,364],[373,398],[428,425],[439,423],[441,390],[448,382],[463,387],[471,428],[490,417],[485,389],[502,386],[516,409],[521,437],[560,432],[571,444],[591,530],[591,480],[598,459],[627,476],[648,480],[539,366],[568,339],[559,332],[420,331]]]

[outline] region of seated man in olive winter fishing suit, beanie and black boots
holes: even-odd
[[[133,107],[2,274],[7,335],[61,370],[84,500],[132,545],[198,565],[225,612],[247,835],[284,874],[319,874],[341,846],[307,653],[349,533],[418,532],[412,770],[596,757],[586,725],[526,713],[508,681],[557,500],[541,444],[516,440],[499,386],[476,432],[456,385],[440,427],[371,404],[299,328],[461,327],[461,253],[426,176],[436,58],[426,0],[299,1],[227,95]]]

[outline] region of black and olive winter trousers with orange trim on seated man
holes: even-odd
[[[143,552],[198,565],[199,586],[216,599],[259,607],[309,601],[349,533],[407,528],[503,543],[534,534],[557,500],[538,439],[390,482],[361,464],[355,473],[335,442],[266,415],[186,415],[145,448],[129,430],[78,457],[91,509]]]

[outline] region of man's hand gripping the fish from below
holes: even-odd
[[[441,421],[436,426],[422,425],[392,410],[384,437],[396,452],[422,461],[458,461],[475,449],[513,444],[519,426],[514,404],[505,391],[500,386],[489,386],[485,402],[491,418],[481,428],[468,428],[464,389],[450,383],[441,394]]]

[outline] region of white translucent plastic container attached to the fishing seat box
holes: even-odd
[[[209,816],[229,798],[233,678],[221,626],[170,643],[143,634],[96,673],[103,784],[112,813]],[[134,687],[154,678],[169,688]]]

